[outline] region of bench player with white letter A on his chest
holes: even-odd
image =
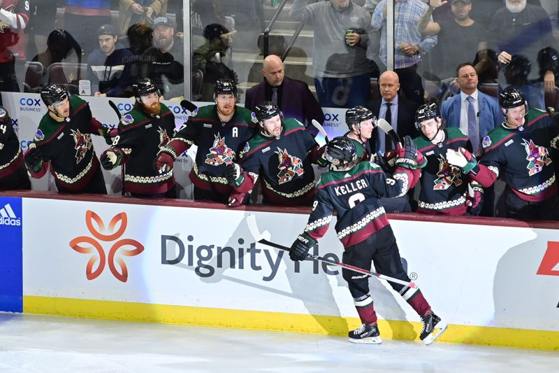
[[[228,203],[233,188],[225,177],[226,164],[235,162],[254,135],[256,117],[235,105],[237,86],[222,78],[214,86],[215,105],[198,108],[195,115],[175,133],[167,146],[159,151],[157,169],[166,172],[173,161],[193,144],[198,146],[190,180],[194,199]]]

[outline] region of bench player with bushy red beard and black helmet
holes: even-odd
[[[142,78],[132,85],[136,103],[120,120],[112,146],[101,155],[104,169],[121,164],[124,190],[132,197],[175,198],[173,169],[159,173],[153,160],[167,145],[175,130],[175,115],[159,101],[160,93],[152,80]]]

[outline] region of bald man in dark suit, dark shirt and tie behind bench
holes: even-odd
[[[324,113],[307,83],[287,78],[282,59],[277,55],[269,55],[264,59],[261,72],[264,81],[247,90],[245,108],[254,111],[256,105],[270,101],[279,107],[286,118],[295,118],[307,127],[307,132],[316,135],[318,131],[310,125],[311,120],[322,124]]]

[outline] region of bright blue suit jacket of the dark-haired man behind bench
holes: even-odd
[[[479,143],[491,129],[500,125],[504,120],[504,115],[499,107],[497,99],[477,92],[477,100],[479,106]],[[447,127],[460,127],[460,94],[456,94],[442,102],[441,115],[447,122]]]

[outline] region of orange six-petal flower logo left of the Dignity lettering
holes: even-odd
[[[128,280],[128,268],[124,262],[124,257],[139,255],[144,251],[144,246],[135,239],[119,239],[126,230],[128,225],[128,217],[126,213],[117,213],[110,220],[108,227],[105,226],[103,220],[91,210],[85,213],[85,225],[89,233],[93,237],[80,236],[70,241],[70,247],[78,253],[91,254],[85,267],[85,275],[88,280],[99,277],[108,264],[110,273],[119,281],[126,282]],[[115,230],[118,225],[118,230]],[[118,241],[117,241],[118,240]],[[101,242],[111,243],[108,258]],[[131,246],[131,249],[124,247]]]

